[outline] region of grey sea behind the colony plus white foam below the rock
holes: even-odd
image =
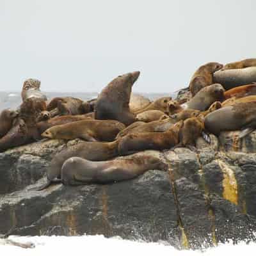
[[[54,97],[72,96],[83,100],[95,99],[97,93],[45,93],[48,99]],[[164,96],[175,97],[176,93],[138,93],[157,99]],[[16,109],[20,106],[20,93],[0,92],[0,111],[6,108]],[[3,221],[3,220],[1,220]],[[33,245],[32,248],[22,248],[8,243],[5,239],[0,239],[0,255],[17,256],[40,256],[40,255],[93,255],[93,256],[131,256],[131,255],[161,255],[161,256],[211,256],[211,255],[254,255],[256,243],[245,243],[241,241],[233,244],[232,241],[225,244],[218,244],[212,248],[202,248],[200,250],[178,250],[163,241],[159,243],[147,243],[145,241],[129,241],[121,237],[106,238],[97,236],[10,236],[10,241]]]

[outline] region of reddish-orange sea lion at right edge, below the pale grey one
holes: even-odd
[[[238,86],[224,93],[225,99],[230,99],[232,97],[241,98],[250,95],[256,95],[256,83]]]

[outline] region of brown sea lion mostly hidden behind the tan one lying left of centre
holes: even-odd
[[[48,111],[43,111],[40,115],[44,115],[44,112],[49,113]],[[40,120],[41,118],[39,118]],[[90,116],[85,115],[67,115],[67,116],[55,116],[48,120],[40,121],[37,120],[36,127],[40,134],[46,131],[48,128],[52,126],[61,125],[61,124],[68,124],[71,122],[81,121],[81,120],[91,120]]]

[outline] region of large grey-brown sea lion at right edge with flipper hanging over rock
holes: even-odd
[[[255,111],[256,101],[240,102],[233,106],[226,106],[205,117],[205,128],[216,136],[221,131],[243,129],[239,136],[239,138],[243,138],[256,128]]]

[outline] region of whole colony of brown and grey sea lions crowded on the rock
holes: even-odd
[[[106,183],[166,170],[163,155],[144,150],[196,150],[200,136],[210,143],[209,133],[241,130],[243,138],[256,128],[256,59],[202,65],[182,100],[131,97],[139,76],[138,71],[118,76],[87,102],[73,97],[48,101],[40,81],[26,80],[20,107],[0,114],[0,151],[42,138],[84,140],[52,157],[47,184],[39,188],[44,189],[54,181]]]

